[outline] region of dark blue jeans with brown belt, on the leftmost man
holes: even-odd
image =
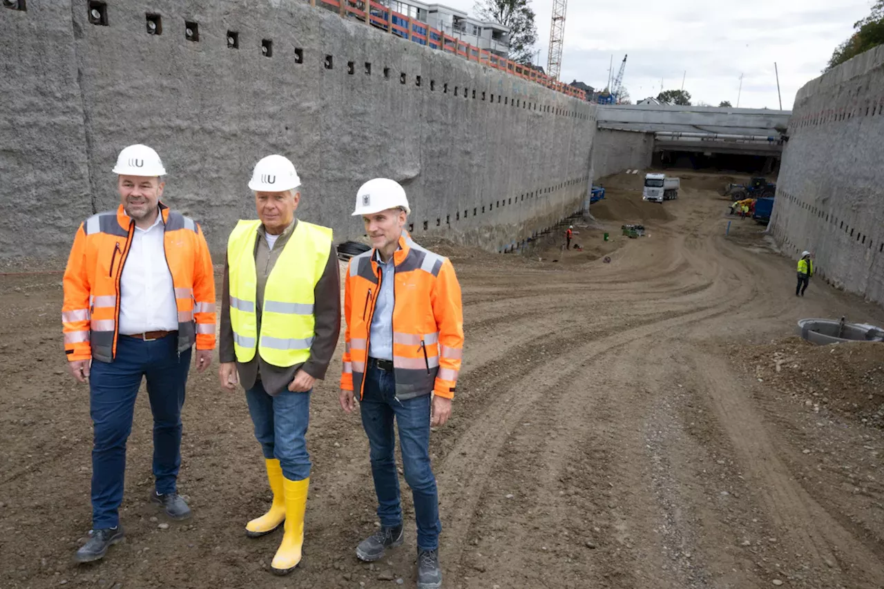
[[[89,374],[89,413],[92,416],[92,527],[119,524],[126,473],[126,440],[132,432],[135,397],[141,379],[148,380],[150,410],[154,414],[156,493],[174,493],[181,465],[181,408],[190,349],[177,351],[174,333],[143,341],[118,336],[112,363],[93,360]]]

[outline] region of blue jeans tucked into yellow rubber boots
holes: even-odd
[[[267,394],[260,379],[246,391],[248,413],[255,424],[255,438],[261,442],[264,458],[276,458],[289,480],[310,476],[307,426],[310,421],[310,393],[283,390]]]

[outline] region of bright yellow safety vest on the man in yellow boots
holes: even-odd
[[[227,241],[230,279],[230,322],[233,349],[240,363],[255,357],[293,366],[310,357],[316,320],[313,315],[316,283],[331,251],[331,229],[299,220],[267,277],[258,333],[255,301],[255,239],[261,221],[240,220]],[[255,346],[257,343],[257,346]]]

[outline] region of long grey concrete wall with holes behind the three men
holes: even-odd
[[[350,212],[377,176],[406,187],[417,241],[506,249],[583,202],[591,104],[296,0],[149,11],[0,7],[0,256],[65,256],[83,218],[116,206],[110,170],[135,142],[163,157],[164,201],[202,224],[216,261],[255,217],[248,177],[271,153],[301,175],[299,217],[336,241],[362,236]]]

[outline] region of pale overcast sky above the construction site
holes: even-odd
[[[437,0],[474,15],[474,0]],[[539,63],[546,67],[552,0],[529,0],[537,18]],[[629,54],[624,86],[633,102],[682,88],[692,102],[791,109],[798,88],[816,78],[850,37],[870,0],[569,0],[560,80],[604,88]]]

